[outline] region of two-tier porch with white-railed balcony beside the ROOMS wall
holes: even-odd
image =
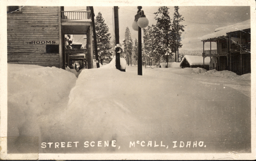
[[[81,54],[84,55],[83,61],[80,66],[87,69],[93,68],[93,32],[92,22],[90,17],[90,10],[87,11],[61,11],[61,43],[62,43],[62,58],[63,66],[71,66],[70,62],[73,58],[80,58]],[[86,48],[84,49],[66,49],[65,35],[86,35]]]

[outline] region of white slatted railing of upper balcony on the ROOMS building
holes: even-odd
[[[61,11],[61,20],[84,20],[90,19],[90,11]]]

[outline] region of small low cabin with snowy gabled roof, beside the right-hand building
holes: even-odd
[[[181,68],[204,68],[209,70],[210,58],[196,55],[185,55],[180,62]]]

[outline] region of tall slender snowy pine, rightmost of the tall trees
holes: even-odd
[[[181,25],[180,22],[184,21],[184,17],[179,13],[180,8],[178,6],[174,7],[173,22],[172,22],[172,37],[173,37],[173,50],[175,51],[175,61],[179,59],[179,48],[182,47],[181,44],[181,34],[184,32],[186,25]],[[177,55],[177,58],[176,58]]]

